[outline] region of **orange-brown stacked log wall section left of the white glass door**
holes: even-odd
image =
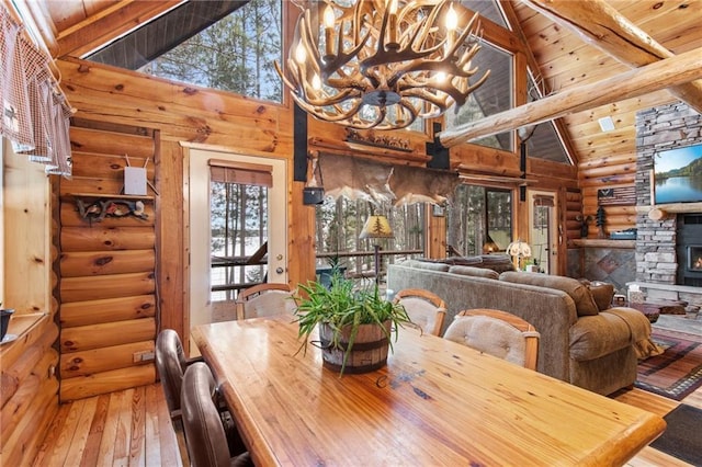
[[[157,137],[71,127],[73,176],[60,181],[61,401],[156,380],[155,193],[143,198],[146,219],[87,219],[77,200],[122,201],[127,157],[154,184]]]

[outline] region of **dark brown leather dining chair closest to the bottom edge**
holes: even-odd
[[[215,396],[217,387],[210,367],[197,362],[183,376],[181,407],[188,457],[193,467],[251,466],[247,451],[230,452]]]

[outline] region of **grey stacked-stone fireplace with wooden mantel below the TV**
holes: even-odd
[[[702,287],[702,267],[695,265],[702,251],[702,203],[659,205],[655,207],[664,212],[663,217],[649,215],[655,155],[700,143],[702,116],[684,103],[636,115],[636,282],[654,289]]]

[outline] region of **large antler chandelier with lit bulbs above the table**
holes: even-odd
[[[453,1],[325,3],[322,21],[312,8],[299,16],[287,73],[275,62],[295,102],[319,119],[404,128],[463,105],[489,75],[472,79],[478,14],[461,26]]]

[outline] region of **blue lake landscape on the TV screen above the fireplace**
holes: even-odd
[[[702,202],[702,145],[654,156],[656,204]]]

